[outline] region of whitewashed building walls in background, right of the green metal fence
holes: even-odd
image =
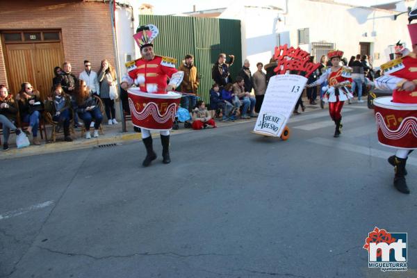
[[[269,5],[281,10],[267,9]],[[257,62],[269,62],[277,45],[278,33],[282,34],[282,38],[287,38],[289,45],[297,47],[297,29],[300,28],[309,28],[310,43],[335,43],[337,49],[345,52],[348,60],[350,56],[359,54],[359,42],[370,42],[370,54],[379,54],[379,59],[374,59],[373,62],[377,67],[386,62],[385,53],[389,45],[401,40],[411,47],[407,15],[400,15],[396,21],[393,20],[393,15],[395,13],[386,10],[329,2],[275,0],[271,3],[270,0],[258,0],[255,3],[235,1],[220,18],[240,19],[242,60],[248,58],[251,70],[255,72]],[[375,36],[372,35],[373,32],[376,33]],[[367,33],[366,37],[363,36],[364,33]],[[300,47],[311,51],[311,44],[302,44]]]

